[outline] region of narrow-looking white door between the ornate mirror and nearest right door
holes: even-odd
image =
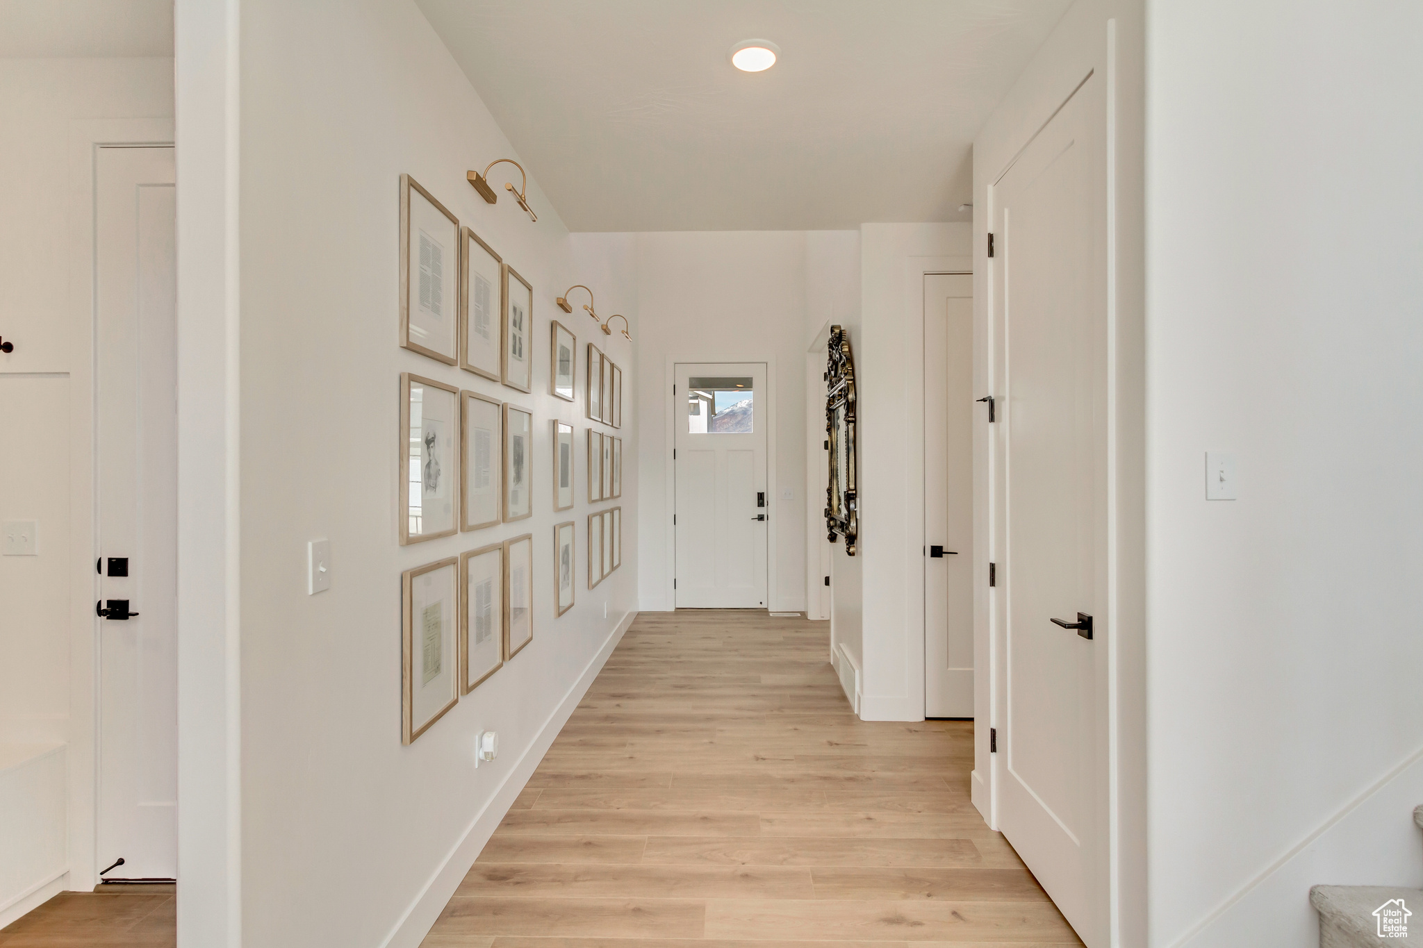
[[[924,713],[973,716],[973,276],[924,277]]]

